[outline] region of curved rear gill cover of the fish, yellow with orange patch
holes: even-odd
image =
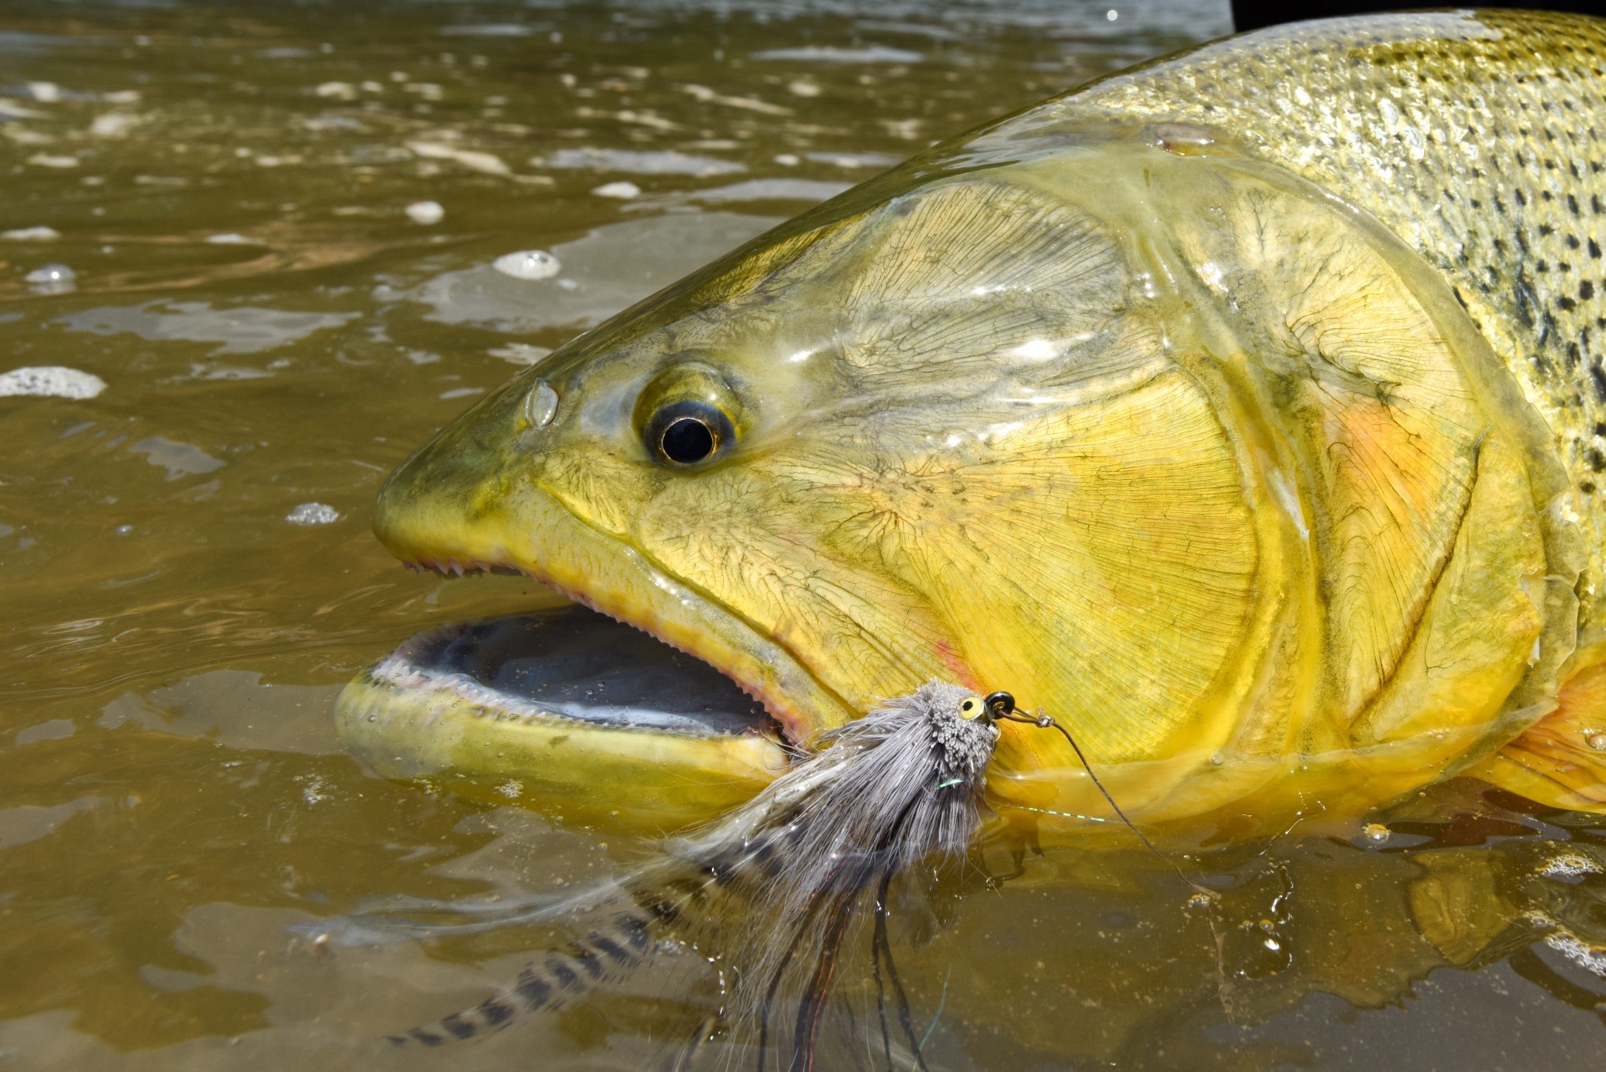
[[[1288,606],[1320,654],[1293,743],[1388,746],[1367,762],[1389,796],[1498,736],[1537,651],[1545,540],[1521,439],[1412,251],[1293,177],[1206,166],[1225,180],[1195,177],[1209,211],[1174,233],[1232,310],[1238,352],[1211,374],[1264,421],[1309,532]]]

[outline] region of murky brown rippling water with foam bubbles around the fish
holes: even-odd
[[[374,898],[519,898],[644,852],[342,754],[329,706],[361,664],[544,598],[405,574],[373,493],[516,365],[776,219],[1227,29],[1208,0],[1107,11],[6,5],[0,373],[106,387],[0,399],[0,1066],[673,1058],[713,992],[654,972],[392,1053],[379,1033],[477,1001],[551,935],[305,937]],[[491,267],[536,248],[559,276]],[[930,1066],[1595,1067],[1606,982],[1522,913],[1600,935],[1606,833],[1468,786],[1413,807],[1381,845],[1192,861],[1213,914],[1152,860],[1028,860],[904,961]]]

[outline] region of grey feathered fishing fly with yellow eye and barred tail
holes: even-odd
[[[756,1048],[760,1072],[777,1054],[789,1056],[789,1072],[811,1072],[848,942],[867,926],[882,1058],[895,1067],[896,1033],[904,1067],[925,1069],[891,953],[893,884],[933,879],[967,858],[1002,722],[1057,728],[1092,776],[1076,741],[1050,717],[1017,712],[1004,691],[978,696],[930,681],[827,733],[753,800],[670,841],[662,858],[543,910],[544,918],[583,911],[601,923],[480,1004],[392,1040],[437,1046],[471,1038],[609,985],[668,945],[719,951],[728,982],[718,1021]]]

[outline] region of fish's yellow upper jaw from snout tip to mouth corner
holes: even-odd
[[[493,508],[419,492],[408,468],[374,509],[374,534],[403,563],[440,572],[512,569],[641,628],[736,681],[808,743],[858,715],[787,646],[628,543],[599,532],[538,487],[522,485]],[[400,479],[397,479],[400,477]]]

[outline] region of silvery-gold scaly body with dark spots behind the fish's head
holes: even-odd
[[[1556,432],[1590,553],[1585,638],[1606,627],[1606,21],[1298,23],[1110,77],[1058,116],[1229,130],[1437,267]]]

